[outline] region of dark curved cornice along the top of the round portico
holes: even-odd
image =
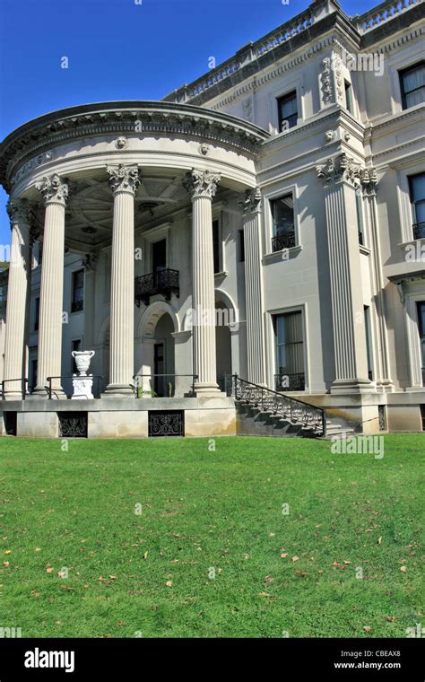
[[[178,136],[221,144],[250,157],[269,134],[240,118],[187,104],[102,102],[61,109],[17,128],[0,144],[0,183],[9,191],[15,168],[54,158],[60,144],[94,136]]]

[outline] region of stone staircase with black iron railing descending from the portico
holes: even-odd
[[[237,374],[226,378],[226,392],[235,398],[239,435],[330,440],[353,433],[349,425],[330,418],[321,407],[240,379]]]

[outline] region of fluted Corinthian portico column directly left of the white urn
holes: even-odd
[[[46,205],[39,293],[38,385],[35,397],[47,398],[48,377],[61,373],[64,304],[65,204],[68,186],[54,173],[36,185]],[[60,379],[52,380],[52,398],[64,398]]]

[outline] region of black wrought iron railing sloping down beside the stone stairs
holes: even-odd
[[[226,376],[226,393],[236,400],[258,407],[262,412],[281,416],[291,424],[302,424],[305,428],[312,429],[317,435],[326,435],[326,415],[321,407],[308,405],[284,393],[240,379],[238,374]]]

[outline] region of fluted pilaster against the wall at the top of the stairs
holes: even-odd
[[[260,189],[247,189],[245,197],[239,201],[239,205],[243,210],[244,221],[247,380],[265,386]]]

